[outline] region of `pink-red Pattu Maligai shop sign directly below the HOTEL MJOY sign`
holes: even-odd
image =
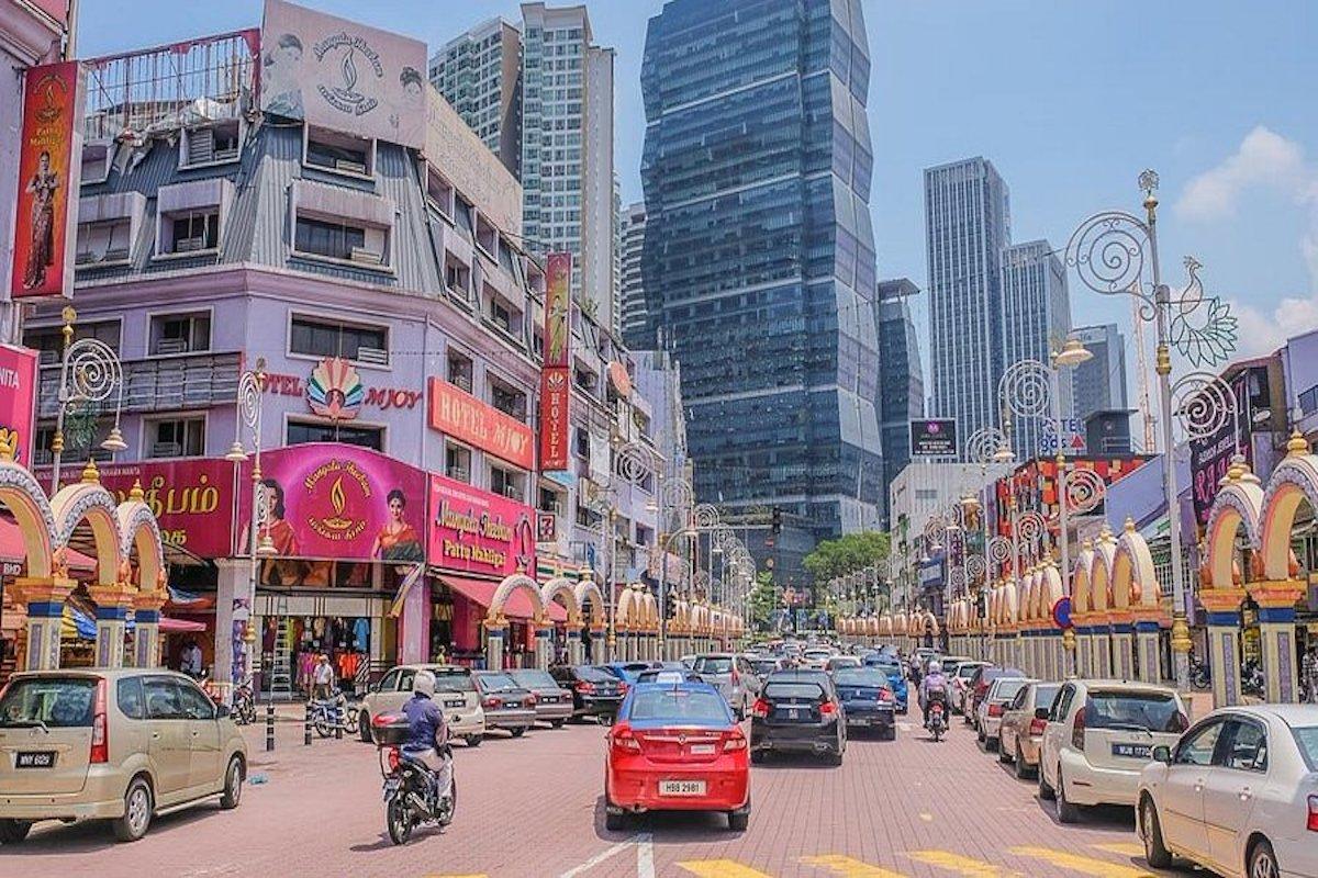
[[[443,475],[430,477],[430,563],[506,577],[535,574],[535,512],[517,500]]]

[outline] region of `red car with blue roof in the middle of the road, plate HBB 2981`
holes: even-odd
[[[608,736],[605,827],[625,829],[645,811],[722,811],[741,831],[750,819],[746,736],[709,683],[638,683]]]

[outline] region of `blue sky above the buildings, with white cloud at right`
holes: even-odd
[[[1318,326],[1318,3],[862,1],[880,276],[924,283],[925,166],[991,159],[1011,187],[1014,240],[1057,247],[1089,213],[1137,211],[1135,179],[1153,167],[1172,283],[1181,257],[1198,257],[1209,292],[1240,313],[1248,353]],[[519,16],[511,0],[303,3],[431,47],[484,18]],[[639,200],[641,54],[663,4],[588,5],[596,41],[617,49],[616,161],[623,197]],[[79,54],[260,20],[260,0],[83,0]],[[1077,324],[1128,324],[1124,301],[1074,282],[1072,301]]]

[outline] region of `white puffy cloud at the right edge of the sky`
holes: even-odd
[[[1234,154],[1186,184],[1176,211],[1186,220],[1201,222],[1227,219],[1235,215],[1238,203],[1252,190],[1276,192],[1307,209],[1309,225],[1300,237],[1300,251],[1318,290],[1318,165],[1305,159],[1304,147],[1296,141],[1263,125],[1256,126],[1246,134]],[[1285,299],[1278,312],[1288,301],[1306,303]]]

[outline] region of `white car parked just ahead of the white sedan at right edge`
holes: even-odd
[[[1043,708],[1040,708],[1043,710]],[[1127,681],[1073,679],[1048,712],[1039,753],[1039,798],[1057,799],[1057,820],[1087,804],[1133,806],[1153,748],[1189,728],[1176,690]]]

